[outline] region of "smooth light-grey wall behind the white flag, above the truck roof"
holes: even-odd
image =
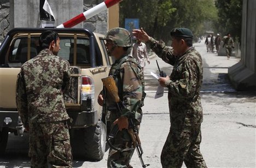
[[[61,25],[83,12],[83,1],[48,0],[48,3],[56,19],[53,26]],[[45,23],[45,21],[39,21],[39,1],[15,0],[13,11],[14,27],[40,27],[42,23]],[[75,27],[83,27],[83,23],[79,23]]]

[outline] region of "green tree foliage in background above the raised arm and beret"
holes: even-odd
[[[156,39],[170,40],[174,27],[187,27],[197,37],[207,30],[205,22],[217,22],[217,11],[214,0],[125,0],[120,26],[125,27],[125,18],[138,18],[139,26]]]

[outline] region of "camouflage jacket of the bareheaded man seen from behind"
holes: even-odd
[[[16,105],[25,126],[28,122],[55,122],[69,118],[63,92],[69,86],[69,63],[42,50],[25,62],[16,83]]]

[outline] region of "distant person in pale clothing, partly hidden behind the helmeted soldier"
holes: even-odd
[[[147,59],[148,64],[150,64],[147,46],[139,39],[132,45],[131,56],[137,60],[143,70],[146,65],[145,59]]]

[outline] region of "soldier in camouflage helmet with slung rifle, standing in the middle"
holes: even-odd
[[[110,68],[109,76],[112,75],[117,83],[118,95],[123,103],[123,108],[121,111],[117,109],[117,104],[107,91],[105,94],[98,95],[98,103],[103,105],[103,98],[105,98],[107,110],[110,111],[110,128],[118,124],[119,131],[113,145],[121,149],[131,149],[132,141],[127,132],[128,119],[131,118],[137,125],[141,123],[141,100],[144,85],[142,68],[127,51],[132,45],[129,31],[124,28],[114,28],[107,32],[105,39],[108,54],[116,59]],[[110,148],[107,166],[132,167],[130,160],[133,151],[134,149],[120,152]]]

